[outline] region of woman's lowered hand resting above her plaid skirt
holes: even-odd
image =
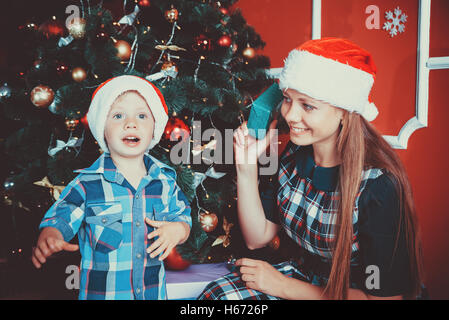
[[[275,297],[282,297],[284,283],[287,279],[271,264],[261,260],[242,258],[235,262],[240,266],[242,280],[248,288],[254,289]]]

